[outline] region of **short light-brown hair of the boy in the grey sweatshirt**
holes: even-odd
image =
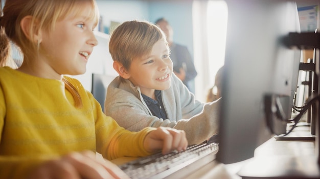
[[[128,70],[135,58],[148,55],[158,40],[166,40],[163,31],[148,21],[126,21],[112,32],[109,41],[109,51],[113,61],[117,61]]]

